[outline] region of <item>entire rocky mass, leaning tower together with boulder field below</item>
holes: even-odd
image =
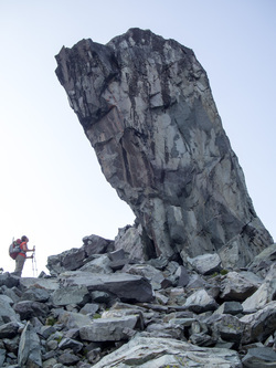
[[[276,244],[193,52],[131,29],[63,48],[57,76],[137,219],[0,274],[0,366],[276,368]]]

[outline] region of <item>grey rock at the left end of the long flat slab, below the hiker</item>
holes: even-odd
[[[54,291],[52,298],[56,306],[68,304],[84,306],[89,302],[89,293],[85,285],[66,286]]]

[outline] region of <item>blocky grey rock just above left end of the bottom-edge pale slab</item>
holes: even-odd
[[[89,326],[79,328],[79,336],[87,341],[125,340],[129,338],[129,332],[134,330],[137,320],[138,317],[134,315],[120,318],[94,319]]]

